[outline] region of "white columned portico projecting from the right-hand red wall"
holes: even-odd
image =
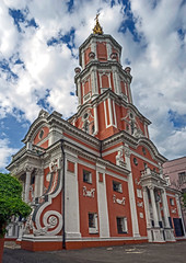
[[[147,168],[141,172],[147,230],[150,242],[175,241],[170,226],[165,182],[161,174]]]

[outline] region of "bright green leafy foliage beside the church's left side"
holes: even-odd
[[[22,201],[22,185],[10,174],[0,173],[0,237],[5,233],[5,227],[11,217],[27,217],[31,207]]]

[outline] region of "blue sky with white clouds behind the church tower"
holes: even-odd
[[[74,68],[94,18],[123,46],[133,103],[168,159],[186,156],[185,0],[1,0],[0,171],[42,107],[77,111]]]

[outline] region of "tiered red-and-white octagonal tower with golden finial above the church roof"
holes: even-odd
[[[132,104],[131,69],[120,64],[121,46],[103,33],[98,14],[95,20],[93,33],[79,48],[81,68],[74,69],[78,113],[69,122],[100,139],[120,130],[135,134],[135,129],[148,136],[144,117]],[[142,124],[137,124],[137,115]]]

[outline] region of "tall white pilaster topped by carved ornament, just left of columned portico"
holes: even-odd
[[[125,161],[127,164],[127,169],[130,171],[130,174],[128,175],[128,191],[129,191],[129,202],[130,202],[130,210],[131,210],[132,233],[133,233],[133,237],[140,237],[138,217],[137,217],[137,205],[136,205],[136,197],[135,197],[135,191],[133,191],[133,179],[132,179],[131,164],[130,164],[130,149],[128,146],[125,147]]]

